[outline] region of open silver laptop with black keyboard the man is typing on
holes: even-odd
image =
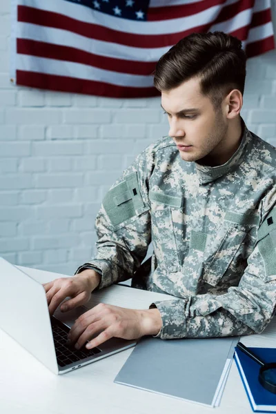
[[[0,257],[0,292],[0,328],[55,374],[68,373],[137,343],[111,338],[91,350],[83,346],[77,351],[66,346],[70,326],[88,308],[80,306],[75,313],[70,311],[75,317],[68,323],[57,319],[56,315],[61,314],[58,310],[50,317],[42,284],[3,257]]]

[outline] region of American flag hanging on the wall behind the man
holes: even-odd
[[[270,0],[12,0],[14,83],[153,97],[161,55],[191,32],[223,31],[248,57],[274,48]]]

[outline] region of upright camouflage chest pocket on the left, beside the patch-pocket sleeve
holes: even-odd
[[[175,239],[175,226],[172,220],[172,208],[180,208],[182,199],[151,191],[149,197],[151,201],[152,244],[157,262],[159,266],[164,266],[169,272],[178,272],[181,266]]]

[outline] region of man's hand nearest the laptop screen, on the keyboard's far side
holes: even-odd
[[[97,288],[101,275],[93,269],[85,269],[74,277],[60,277],[43,284],[46,290],[46,297],[49,313],[52,315],[59,304],[66,297],[70,297],[61,305],[61,312],[71,311],[86,304],[91,297],[91,292]]]

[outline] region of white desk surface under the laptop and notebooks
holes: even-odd
[[[41,282],[60,277],[42,270],[26,269],[26,273],[35,275]],[[243,337],[242,342],[246,346],[275,347],[275,338],[276,318],[262,335]],[[0,329],[0,411],[3,414],[253,412],[235,362],[217,408],[114,384],[113,380],[132,351],[130,348],[65,375],[55,375]]]

